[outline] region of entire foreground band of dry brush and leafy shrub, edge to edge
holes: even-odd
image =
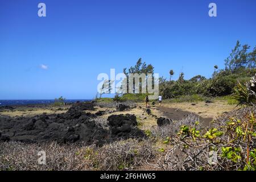
[[[102,147],[76,144],[0,143],[0,170],[256,170],[256,107],[226,113],[210,129],[188,115],[146,130],[147,139],[119,140]],[[164,148],[158,148],[159,142]],[[46,152],[46,165],[38,152]]]

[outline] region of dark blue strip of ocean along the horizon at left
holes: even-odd
[[[10,105],[31,105],[31,104],[52,104],[55,100],[0,100],[0,106],[10,106]],[[91,101],[88,99],[84,100],[65,100],[65,103],[75,103],[77,101]]]

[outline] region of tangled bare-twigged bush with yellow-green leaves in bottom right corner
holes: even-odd
[[[181,125],[158,160],[164,170],[256,170],[256,109],[218,118],[211,129]]]

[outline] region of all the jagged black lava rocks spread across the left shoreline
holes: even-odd
[[[135,115],[119,114],[108,117],[109,129],[101,126],[95,120],[104,111],[95,114],[94,102],[78,102],[69,107],[64,113],[39,114],[34,117],[10,117],[0,115],[0,140],[20,141],[25,143],[51,142],[58,143],[86,143],[102,145],[118,139],[143,138],[143,131],[137,127]],[[27,108],[52,107],[49,105],[22,106]],[[15,110],[19,106],[0,107],[1,111]],[[57,110],[65,110],[67,106]],[[117,111],[129,109],[120,104]]]

